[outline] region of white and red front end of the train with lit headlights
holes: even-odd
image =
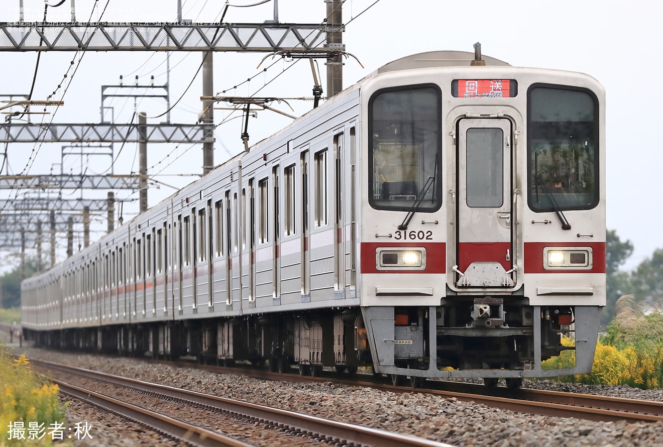
[[[375,370],[512,386],[588,373],[605,305],[603,88],[470,70],[386,74],[362,92],[361,325]],[[502,96],[468,94],[496,80]],[[569,349],[574,365],[542,368]]]

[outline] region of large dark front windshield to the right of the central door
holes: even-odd
[[[599,113],[581,89],[528,92],[528,202],[536,212],[588,210],[599,200]]]

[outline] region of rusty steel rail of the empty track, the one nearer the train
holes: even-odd
[[[276,426],[299,430],[316,437],[343,440],[346,444],[355,443],[363,446],[379,447],[451,447],[449,444],[407,434],[338,422],[318,416],[305,415],[294,411],[199,393],[198,391],[190,391],[168,385],[158,385],[156,383],[130,379],[129,377],[120,377],[99,371],[91,371],[90,369],[61,365],[60,363],[51,361],[37,359],[30,359],[30,361],[34,365],[44,365],[64,373],[75,373],[95,380],[113,383],[121,387],[137,388],[141,391],[164,395],[172,399],[180,399],[196,405],[204,405],[211,409],[220,409],[229,413],[255,418],[259,421],[271,422]]]

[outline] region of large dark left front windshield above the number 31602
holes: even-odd
[[[433,212],[442,204],[440,90],[381,90],[369,101],[369,202],[377,210]]]

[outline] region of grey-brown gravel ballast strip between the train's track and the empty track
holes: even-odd
[[[373,428],[422,436],[455,446],[663,446],[663,422],[592,422],[575,418],[527,415],[465,403],[453,398],[440,398],[426,393],[391,393],[371,387],[323,383],[289,383],[252,377],[217,374],[210,371],[147,363],[138,359],[82,355],[28,348],[29,357],[57,361],[72,366],[95,369],[192,389],[272,407],[363,424]],[[642,391],[631,387],[607,387],[525,381],[523,387],[570,391],[663,401],[663,391]],[[73,410],[70,406],[68,411]],[[84,421],[90,412],[69,415]],[[103,416],[95,416],[97,418]],[[112,426],[113,418],[106,416]],[[117,418],[115,418],[117,419]],[[118,422],[119,426],[126,425]],[[94,436],[93,428],[91,430]],[[123,440],[121,445],[145,444],[142,440]],[[113,443],[120,445],[117,437]]]

